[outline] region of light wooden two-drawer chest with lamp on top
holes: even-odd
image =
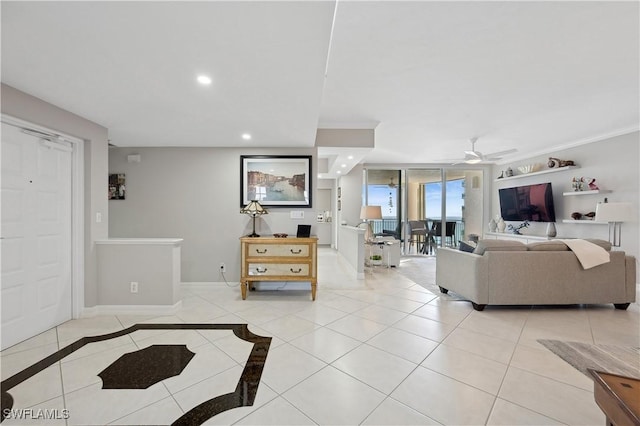
[[[242,299],[252,281],[309,281],[316,300],[318,238],[240,238]]]

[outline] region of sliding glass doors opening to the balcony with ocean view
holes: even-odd
[[[401,239],[405,254],[434,254],[482,235],[483,171],[368,169],[363,204],[382,208],[382,220],[373,221],[376,234]]]

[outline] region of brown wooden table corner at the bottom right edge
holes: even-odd
[[[607,416],[607,426],[640,425],[640,380],[589,369],[593,397]]]

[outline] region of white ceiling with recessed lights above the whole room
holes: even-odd
[[[317,128],[375,128],[363,161],[434,163],[471,137],[517,157],[640,127],[637,1],[1,8],[2,82],[116,146],[312,147]]]

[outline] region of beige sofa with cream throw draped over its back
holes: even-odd
[[[613,303],[626,309],[635,301],[636,260],[611,251],[602,240],[590,240],[610,251],[610,261],[583,269],[560,241],[525,245],[519,241],[480,240],[474,252],[440,248],[436,284],[486,305],[567,305]]]

